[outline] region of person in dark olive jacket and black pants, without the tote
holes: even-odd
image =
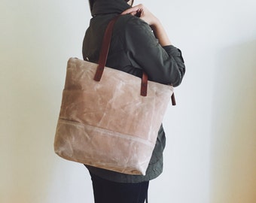
[[[148,80],[178,86],[185,72],[181,51],[172,46],[157,17],[143,5],[132,8],[132,4],[133,0],[90,0],[93,18],[84,36],[84,60],[98,62],[105,28],[113,17],[122,14],[114,25],[106,65],[138,77],[142,77],[142,71],[145,71]],[[93,181],[95,202],[144,202],[149,180],[163,171],[165,140],[161,126],[145,176],[87,166]]]

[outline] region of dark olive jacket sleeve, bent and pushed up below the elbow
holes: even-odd
[[[142,68],[149,80],[173,86],[181,83],[185,72],[181,50],[162,47],[143,20],[133,17],[126,23],[123,44],[133,67]]]

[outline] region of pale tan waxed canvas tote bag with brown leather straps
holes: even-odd
[[[145,174],[173,88],[105,67],[115,20],[99,64],[68,61],[54,150],[85,165]]]

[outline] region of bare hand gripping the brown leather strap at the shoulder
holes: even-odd
[[[145,8],[145,6],[142,4],[129,8],[126,11],[123,11],[122,14],[131,14],[133,16],[138,16],[150,26],[154,26],[159,23],[157,17],[155,17],[154,14],[148,11],[148,9]]]

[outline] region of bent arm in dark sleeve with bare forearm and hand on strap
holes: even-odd
[[[185,72],[181,51],[171,45],[159,20],[142,5],[123,12],[133,16],[138,13],[142,20],[131,18],[124,30],[123,44],[130,62],[133,67],[141,67],[149,80],[178,86]]]

